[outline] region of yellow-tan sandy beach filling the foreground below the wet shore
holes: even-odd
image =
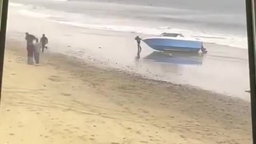
[[[43,54],[9,41],[0,143],[251,143],[250,103]],[[221,85],[220,85],[221,86]]]

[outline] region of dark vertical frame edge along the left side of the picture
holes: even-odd
[[[1,29],[0,29],[0,106],[1,106],[1,98],[2,98],[4,50],[5,50],[5,39],[6,39],[6,29],[7,29],[8,3],[9,3],[9,0],[3,0],[2,2]]]

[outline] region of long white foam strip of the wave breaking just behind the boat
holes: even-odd
[[[175,29],[175,28],[169,28],[169,27],[146,28],[146,27],[133,27],[133,26],[115,26],[115,25],[91,25],[91,24],[71,22],[71,21],[55,21],[55,22],[62,23],[65,25],[90,28],[90,29],[113,30],[113,31],[122,31],[122,32],[128,32],[128,33],[148,34],[148,35],[160,35],[162,33],[181,33],[186,37],[197,38],[207,43],[228,45],[233,47],[239,47],[242,49],[247,48],[247,38],[243,36],[236,36],[236,35],[205,34],[205,33],[200,33],[198,31]]]

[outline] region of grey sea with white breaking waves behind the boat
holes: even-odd
[[[12,0],[18,13],[90,29],[182,33],[246,49],[245,2],[185,0]]]

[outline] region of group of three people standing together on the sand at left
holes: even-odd
[[[48,38],[43,34],[39,42],[38,38],[36,38],[34,35],[26,33],[25,39],[27,41],[28,65],[33,65],[34,60],[35,63],[38,64],[41,49],[42,53],[44,52],[44,49],[47,49],[46,44],[48,43]]]

